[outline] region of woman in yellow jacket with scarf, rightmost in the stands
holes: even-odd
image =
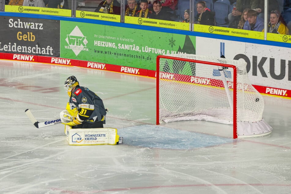
[[[277,10],[271,11],[270,13],[270,22],[268,24],[267,32],[289,35],[289,29],[283,22],[280,21],[280,14]]]

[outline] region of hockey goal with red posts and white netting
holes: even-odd
[[[194,54],[157,57],[156,123],[205,120],[233,125],[233,138],[264,136],[264,101],[246,62]]]

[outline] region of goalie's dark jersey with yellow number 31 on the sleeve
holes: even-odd
[[[69,100],[70,109],[77,107],[80,119],[84,122],[103,121],[105,124],[106,110],[102,99],[88,88],[76,86]]]

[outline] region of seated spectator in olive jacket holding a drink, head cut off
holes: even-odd
[[[237,0],[235,9],[228,14],[229,28],[237,28],[243,10],[246,8],[259,8],[259,1],[260,0]]]

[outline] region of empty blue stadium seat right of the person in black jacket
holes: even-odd
[[[213,5],[213,11],[215,12],[216,26],[228,27],[228,14],[230,13],[229,0],[218,0]]]

